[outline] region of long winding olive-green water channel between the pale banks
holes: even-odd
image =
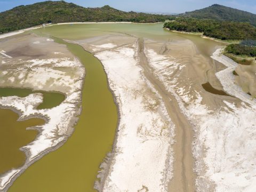
[[[100,61],[82,46],[54,40],[65,44],[85,67],[82,114],[65,145],[28,167],[9,191],[95,191],[99,166],[114,141],[117,107]]]

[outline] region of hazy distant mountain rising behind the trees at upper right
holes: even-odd
[[[186,12],[180,14],[180,16],[219,21],[249,22],[251,25],[256,26],[256,14],[218,4],[214,4],[201,10]]]

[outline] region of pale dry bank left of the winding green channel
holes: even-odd
[[[17,111],[20,120],[31,117],[46,120],[46,124],[34,127],[39,131],[37,138],[21,148],[26,153],[26,163],[0,175],[0,190],[6,191],[29,165],[60,147],[73,132],[81,111],[81,89],[85,70],[66,46],[54,43],[52,39],[22,34],[0,41],[0,49],[6,55],[11,55],[0,56],[2,87],[25,87],[66,95],[66,99],[59,106],[41,110],[36,109],[43,101],[41,93],[30,94],[25,98],[0,98],[0,106]]]

